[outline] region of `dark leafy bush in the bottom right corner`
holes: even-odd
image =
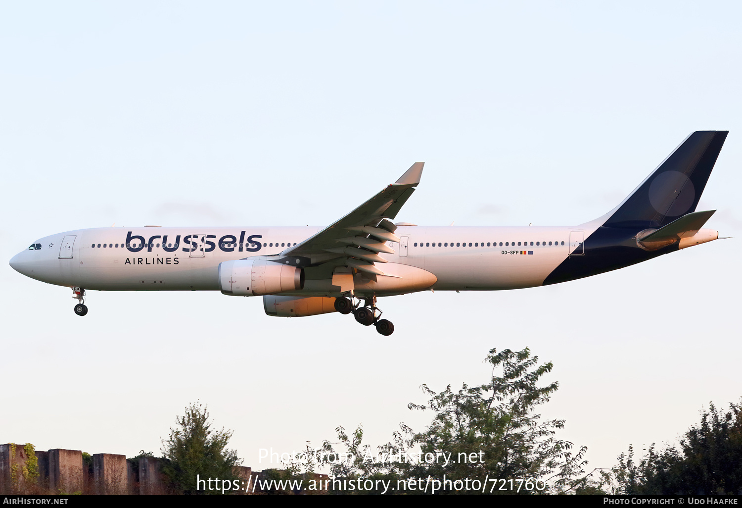
[[[713,403],[680,440],[680,449],[654,444],[634,459],[634,448],[614,468],[618,492],[627,495],[742,495],[742,405],[720,411]]]

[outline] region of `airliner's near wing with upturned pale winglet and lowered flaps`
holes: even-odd
[[[387,241],[398,242],[396,227],[386,219],[396,217],[420,183],[424,163],[414,163],[395,183],[338,221],[284,250],[281,256],[302,256],[314,261],[347,258],[347,267],[371,275],[383,275],[374,263],[386,263],[378,253],[394,253]]]

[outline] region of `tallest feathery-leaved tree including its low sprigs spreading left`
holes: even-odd
[[[433,411],[433,421],[424,432],[416,433],[401,424],[393,440],[378,449],[382,457],[398,457],[390,462],[368,460],[370,447],[362,446],[361,427],[350,436],[338,428],[340,445],[352,460],[329,463],[335,475],[384,476],[385,478],[438,478],[452,481],[466,478],[530,480],[531,489],[520,493],[600,492],[605,481],[584,476],[586,447],[573,451],[572,443],[558,440],[555,434],[564,420],[542,421],[538,406],[548,402],[558,383],[539,386],[541,377],[553,365],[538,365],[531,351],[501,352],[491,350],[485,362],[491,365],[489,382],[453,391],[450,385],[436,393],[427,385],[422,389],[430,400],[424,405],[410,403],[412,410]],[[417,452],[419,450],[419,452]],[[315,451],[315,457],[318,455]],[[335,452],[324,442],[324,457]],[[416,454],[422,460],[410,460]],[[311,454],[310,454],[311,455]],[[425,460],[426,457],[429,460]],[[447,460],[446,460],[447,459]],[[488,476],[487,476],[488,475]],[[582,475],[582,476],[580,476]],[[589,475],[588,475],[589,476]],[[535,481],[539,489],[535,489]],[[548,488],[543,488],[548,485]],[[501,485],[498,484],[498,488]],[[523,486],[521,484],[521,486]],[[508,487],[510,485],[508,484]],[[464,493],[464,490],[461,491]],[[490,492],[487,485],[485,492]],[[456,493],[451,490],[441,493]],[[467,489],[465,493],[473,493]],[[493,493],[513,493],[493,490]]]

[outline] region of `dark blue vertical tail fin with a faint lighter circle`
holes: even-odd
[[[729,131],[696,131],[613,212],[606,227],[663,227],[695,212]]]

